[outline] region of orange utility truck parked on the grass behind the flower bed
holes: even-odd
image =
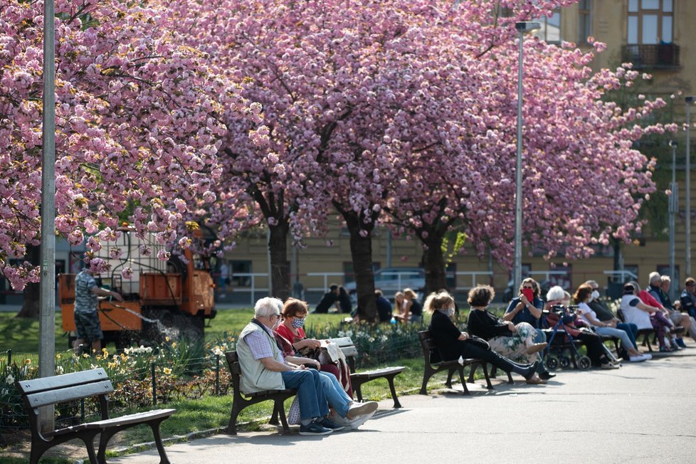
[[[99,320],[104,342],[117,348],[131,344],[155,344],[170,339],[200,339],[204,322],[215,317],[214,284],[208,260],[188,249],[167,261],[157,258],[164,246],[154,237],[139,239],[122,230],[115,243],[95,253],[110,265],[108,273],[95,275],[97,285],[119,292],[124,300],[100,300]],[[114,248],[117,248],[115,251]],[[118,255],[118,258],[112,256]],[[130,278],[121,271],[130,268]],[[68,344],[75,340],[75,274],[58,275],[58,297],[63,314],[63,330]]]

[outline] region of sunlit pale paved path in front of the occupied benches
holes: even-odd
[[[399,410],[381,401],[358,431],[218,435],[167,453],[179,464],[693,463],[696,344],[687,343],[679,354],[613,371],[559,371],[545,386],[517,381],[471,396],[403,396]],[[157,462],[154,450],[110,459]]]

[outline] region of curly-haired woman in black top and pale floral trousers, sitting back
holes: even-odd
[[[490,285],[478,285],[469,291],[468,302],[471,307],[467,327],[476,337],[481,337],[490,345],[494,352],[524,364],[541,362],[539,352],[546,348],[547,343],[534,343],[537,329],[527,322],[515,325],[513,322],[501,320],[487,311],[488,305],[495,296],[495,290]],[[544,383],[538,376],[527,379],[528,384]]]

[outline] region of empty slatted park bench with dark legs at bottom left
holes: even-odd
[[[41,379],[17,381],[15,386],[24,401],[24,406],[26,406],[29,416],[29,424],[31,426],[31,464],[38,463],[41,455],[49,448],[73,439],[79,439],[85,443],[90,463],[105,464],[106,447],[112,436],[140,424],[147,424],[152,428],[154,443],[159,451],[160,462],[169,463],[167,453],[164,452],[164,445],[162,445],[159,424],[164,419],[172,416],[176,410],[157,409],[128,416],[109,418],[108,395],[114,391],[114,387],[104,369],[92,369],[71,374],[43,377]],[[100,421],[55,428],[48,432],[41,431],[41,422],[39,421],[39,409],[41,407],[91,397],[96,397],[99,400],[102,417]],[[95,453],[94,438],[97,435],[100,435],[99,450]]]

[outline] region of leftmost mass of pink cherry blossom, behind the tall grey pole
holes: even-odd
[[[0,272],[21,289],[38,281],[36,266],[10,260],[41,240],[43,11],[19,0],[0,11]],[[91,253],[127,208],[139,235],[172,243],[183,213],[216,199],[223,121],[251,117],[165,17],[147,2],[56,1],[56,232],[88,237],[97,272]]]

